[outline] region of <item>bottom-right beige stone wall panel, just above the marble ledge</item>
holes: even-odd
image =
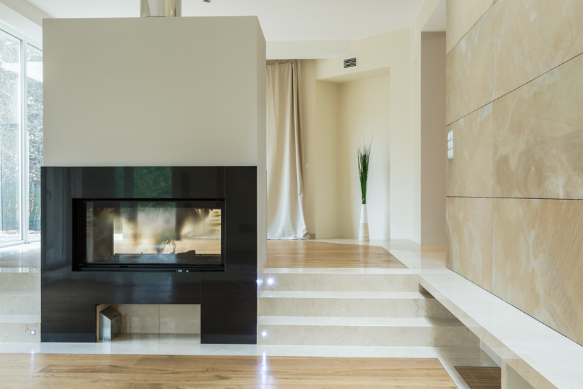
[[[583,201],[494,199],[492,225],[492,292],[583,344]]]

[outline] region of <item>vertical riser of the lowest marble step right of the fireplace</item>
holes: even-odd
[[[262,331],[267,335],[263,337]],[[259,325],[258,344],[314,346],[477,347],[465,327],[353,327]]]

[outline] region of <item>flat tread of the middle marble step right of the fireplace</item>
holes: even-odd
[[[421,292],[320,292],[304,290],[266,290],[261,298],[432,298]]]

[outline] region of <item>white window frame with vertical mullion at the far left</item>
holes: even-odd
[[[29,35],[21,32],[20,30],[14,29],[8,23],[0,20],[0,30],[14,36],[14,38],[20,40],[21,47],[20,47],[20,56],[21,56],[21,80],[20,80],[20,104],[21,104],[21,124],[20,124],[20,169],[21,169],[21,182],[20,182],[20,204],[19,204],[19,216],[20,216],[20,224],[21,224],[21,239],[16,241],[11,241],[8,243],[0,244],[0,248],[8,247],[8,246],[16,246],[20,244],[28,244],[40,241],[40,237],[30,238],[28,234],[28,227],[29,227],[29,154],[28,154],[28,113],[27,113],[27,98],[28,98],[28,91],[27,91],[27,60],[26,60],[26,49],[28,46],[32,46],[41,52],[43,51],[43,44],[42,42],[38,42],[38,40],[31,38]],[[44,53],[43,53],[44,55]],[[44,56],[43,56],[44,61]],[[44,80],[43,80],[44,84]],[[43,145],[44,147],[44,145]],[[42,212],[42,210],[41,210]]]

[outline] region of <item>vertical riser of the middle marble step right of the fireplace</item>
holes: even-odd
[[[434,298],[269,298],[261,316],[453,318]]]

